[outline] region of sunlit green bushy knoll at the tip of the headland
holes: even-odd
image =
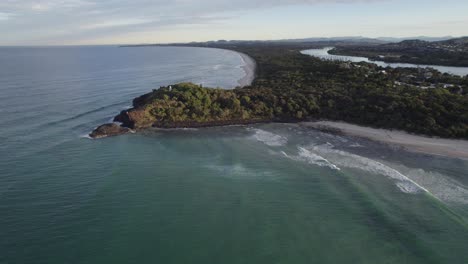
[[[144,128],[155,124],[193,127],[273,118],[270,108],[246,91],[202,88],[192,83],[161,87],[136,98],[135,108],[122,112],[117,120],[132,128]]]

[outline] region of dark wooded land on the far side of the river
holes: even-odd
[[[385,62],[468,67],[468,38],[437,42],[407,40],[373,46],[340,46],[330,53],[368,57]]]

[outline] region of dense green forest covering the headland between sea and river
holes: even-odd
[[[224,48],[226,48],[224,46]],[[161,87],[134,100],[116,120],[131,128],[194,127],[263,121],[343,120],[443,137],[468,138],[468,77],[430,70],[419,84],[401,83],[419,69],[322,61],[302,47],[228,47],[257,62],[251,86],[234,90],[194,84]],[[449,83],[450,88],[443,88]]]

